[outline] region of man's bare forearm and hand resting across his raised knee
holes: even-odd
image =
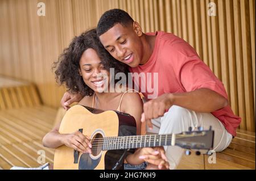
[[[224,96],[207,88],[184,93],[163,94],[144,104],[141,121],[147,121],[148,127],[151,128],[150,119],[163,116],[165,110],[168,110],[172,105],[184,107],[196,112],[213,112],[228,106],[228,100]]]

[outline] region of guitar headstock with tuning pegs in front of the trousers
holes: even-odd
[[[192,131],[190,127],[188,131],[176,134],[175,145],[184,149],[210,150],[213,148],[214,131],[210,127],[204,130],[198,127],[196,131]]]

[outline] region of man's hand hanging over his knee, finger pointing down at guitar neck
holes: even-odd
[[[143,105],[141,121],[146,121],[149,128],[152,129],[151,119],[164,115],[164,112],[172,106],[172,94],[163,94],[156,99],[152,99]]]

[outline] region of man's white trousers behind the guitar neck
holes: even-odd
[[[200,113],[179,106],[172,106],[164,116],[151,120],[153,129],[147,128],[147,133],[170,134],[188,131],[192,127],[194,131],[197,127],[209,129],[212,126],[214,131],[213,150],[218,152],[228,147],[232,141],[232,134],[228,133],[224,125],[211,113]],[[184,149],[179,146],[164,146],[166,157],[170,164],[170,169],[176,169],[184,153]]]

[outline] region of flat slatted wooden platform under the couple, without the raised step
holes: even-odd
[[[0,167],[39,166],[37,151],[46,152],[46,162],[53,163],[53,149],[42,145],[42,138],[60,121],[65,111],[45,106],[0,111]],[[208,162],[209,155],[183,155],[177,169],[255,169],[255,133],[237,131],[237,137],[227,149],[216,154],[216,163]]]

